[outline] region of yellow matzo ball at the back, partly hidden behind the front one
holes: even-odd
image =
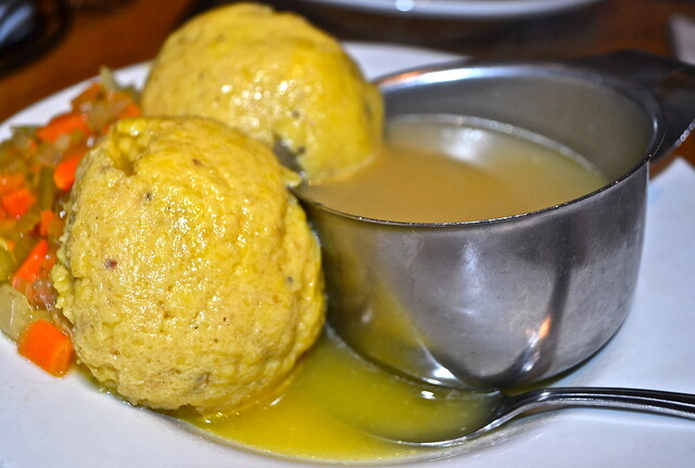
[[[381,144],[381,96],[338,41],[257,4],[214,9],[172,34],[142,109],[218,118],[289,154],[309,179],[353,172]]]

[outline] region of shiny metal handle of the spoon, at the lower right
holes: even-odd
[[[511,399],[514,415],[551,407],[599,407],[695,419],[695,394],[620,388],[554,388],[534,390]]]

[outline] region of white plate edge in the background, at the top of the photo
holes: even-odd
[[[520,20],[561,13],[601,0],[300,0],[383,15],[448,20]]]

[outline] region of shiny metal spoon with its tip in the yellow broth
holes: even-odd
[[[459,433],[441,440],[404,440],[401,437],[396,442],[418,446],[457,445],[479,438],[518,416],[568,407],[627,409],[695,419],[695,394],[590,387],[540,389],[516,395],[500,393],[496,407],[477,427],[460,428]]]

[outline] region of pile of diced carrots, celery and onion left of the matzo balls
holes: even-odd
[[[79,161],[119,118],[140,115],[134,89],[108,69],[65,113],[0,142],[0,330],[20,353],[63,375],[73,345],[50,279]]]

